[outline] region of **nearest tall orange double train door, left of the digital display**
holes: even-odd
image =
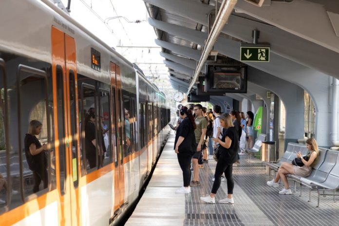
[[[52,27],[52,74],[59,225],[81,225],[75,40]]]

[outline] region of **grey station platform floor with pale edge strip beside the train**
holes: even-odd
[[[176,194],[183,179],[173,145],[174,134],[171,134],[127,226],[338,226],[339,201],[334,203],[333,196],[321,196],[320,207],[316,207],[315,191],[312,191],[311,202],[307,202],[308,188],[302,188],[301,197],[299,187],[292,195],[280,195],[281,188],[266,185],[272,178],[266,176],[262,163],[253,158],[247,161],[245,156],[241,156],[241,164],[233,168],[234,205],[218,203],[226,197],[226,182],[222,182],[218,190],[216,204],[202,203],[199,199],[212,188],[214,160],[200,169],[201,186],[192,187],[190,194]],[[292,181],[290,186],[293,187]]]

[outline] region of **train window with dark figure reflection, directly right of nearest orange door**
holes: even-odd
[[[81,84],[81,154],[83,173],[93,171],[98,166],[98,134],[95,119],[97,118],[95,87],[86,83]]]

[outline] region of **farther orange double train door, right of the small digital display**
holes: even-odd
[[[120,67],[110,63],[111,94],[112,94],[112,145],[114,150],[114,216],[124,205],[124,164],[123,164],[123,139],[122,139],[122,107],[121,107],[121,75]],[[113,220],[113,219],[112,219]]]

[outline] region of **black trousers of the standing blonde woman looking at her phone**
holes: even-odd
[[[211,193],[213,194],[217,193],[221,184],[221,176],[223,175],[223,173],[225,173],[225,177],[227,180],[227,194],[233,194],[234,181],[232,170],[233,164],[226,164],[225,161],[223,161],[223,157],[219,158],[217,166],[215,167],[214,183]]]

